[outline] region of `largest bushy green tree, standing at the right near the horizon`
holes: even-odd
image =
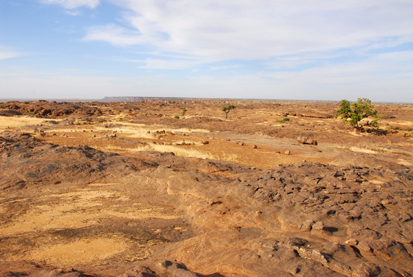
[[[337,110],[337,114],[335,114],[335,118],[341,115],[341,120],[343,124],[348,122],[351,126],[356,128],[357,132],[363,130],[363,126],[359,125],[361,119],[365,119],[368,116],[372,116],[374,120],[369,123],[374,127],[379,126],[379,116],[377,115],[377,110],[374,110],[374,106],[372,105],[372,101],[367,98],[359,98],[357,102],[352,103],[350,106],[350,102],[346,99],[341,100],[339,104],[339,110]],[[350,121],[348,121],[350,119]]]

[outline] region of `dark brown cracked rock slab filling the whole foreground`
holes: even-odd
[[[413,272],[413,174],[404,165],[260,170],[14,132],[0,142],[1,276]]]

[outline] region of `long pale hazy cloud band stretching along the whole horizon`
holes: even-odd
[[[156,68],[155,61],[149,63]],[[177,68],[179,65],[158,65],[168,66]],[[192,68],[192,65],[188,66]],[[299,72],[238,72],[225,78],[220,74],[198,72],[182,73],[180,78],[165,72],[141,72],[123,77],[91,76],[88,72],[72,70],[50,73],[0,68],[0,88],[2,97],[15,93],[22,98],[51,98],[59,91],[60,98],[139,95],[355,101],[359,97],[367,97],[372,101],[413,103],[413,51],[383,53],[362,61],[324,64]],[[136,88],[139,88],[138,92]]]

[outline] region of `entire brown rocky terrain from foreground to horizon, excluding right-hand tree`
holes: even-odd
[[[0,103],[0,276],[412,276],[412,105],[228,103]]]

